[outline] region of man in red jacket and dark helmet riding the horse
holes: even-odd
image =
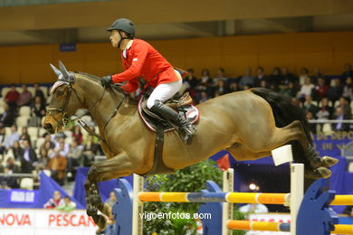
[[[116,20],[107,31],[111,33],[112,46],[122,51],[125,71],[104,76],[101,84],[105,86],[128,81],[121,88],[130,93],[138,89],[138,78],[146,80],[148,85],[154,88],[147,101],[148,109],[176,126],[183,141],[190,144],[192,136],[196,133],[195,127],[179,116],[173,108],[163,104],[182,87],[180,73],[148,42],[135,39],[135,25],[129,19]]]

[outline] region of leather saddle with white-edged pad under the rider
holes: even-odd
[[[157,132],[157,126],[161,127],[164,132],[175,130],[176,127],[147,108],[148,97],[148,94],[144,94],[138,99],[138,114],[145,125],[155,132]],[[200,112],[192,105],[192,102],[193,99],[190,97],[189,93],[186,92],[180,99],[169,99],[165,104],[176,110],[176,112],[186,118],[189,123],[195,124],[200,118]]]

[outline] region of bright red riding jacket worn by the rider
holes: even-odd
[[[122,86],[126,92],[138,89],[138,78],[156,88],[162,83],[178,80],[173,66],[148,42],[134,39],[131,46],[121,53],[123,72],[112,76],[114,83],[128,82]]]

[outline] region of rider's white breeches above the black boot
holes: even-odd
[[[176,73],[178,73],[176,71]],[[179,80],[159,84],[151,93],[148,98],[147,107],[148,109],[152,108],[155,105],[155,100],[159,100],[161,102],[166,101],[167,99],[171,99],[174,97],[177,91],[181,89],[183,85],[183,80],[181,79],[180,74],[177,74],[180,78]]]

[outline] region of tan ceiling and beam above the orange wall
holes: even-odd
[[[107,42],[105,29],[119,17],[146,40],[353,31],[349,0],[11,1],[0,0],[0,45]]]

